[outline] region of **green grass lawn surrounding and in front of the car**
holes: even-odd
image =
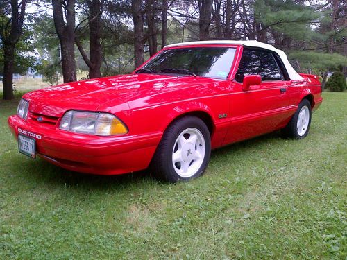
[[[221,148],[176,185],[25,157],[0,101],[0,259],[346,259],[347,93],[323,97],[307,138]]]

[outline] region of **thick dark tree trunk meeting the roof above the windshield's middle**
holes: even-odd
[[[211,23],[212,15],[212,1],[213,0],[198,0],[198,10],[199,10],[199,40],[208,40],[209,28]]]

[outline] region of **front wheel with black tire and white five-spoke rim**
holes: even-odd
[[[201,176],[211,155],[210,131],[196,116],[171,123],[152,160],[152,173],[166,182],[188,181]]]

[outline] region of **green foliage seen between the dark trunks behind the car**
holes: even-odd
[[[227,2],[221,3],[220,15],[225,16]],[[238,1],[237,1],[238,2]],[[6,3],[9,3],[6,1]],[[38,8],[37,13],[26,14],[26,29],[21,41],[17,44],[15,53],[15,73],[26,73],[28,68],[37,69],[42,73],[44,80],[55,84],[62,74],[60,62],[60,46],[51,15],[51,1],[44,0],[37,3],[44,4],[40,8],[31,1],[28,6]],[[104,2],[105,3],[105,2]],[[143,2],[144,3],[144,2]],[[326,54],[323,52],[344,53],[344,40],[347,28],[344,24],[344,6],[339,3],[337,17],[332,26],[332,3],[318,1],[308,6],[307,1],[282,0],[251,0],[240,1],[238,12],[232,17],[233,39],[257,36],[284,50],[317,49],[321,51],[289,51],[289,58],[294,64],[299,64],[301,72],[316,73],[337,69],[347,64],[346,57],[339,54]],[[235,3],[236,4],[236,3]],[[155,21],[158,32],[158,50],[161,40],[161,1],[155,3]],[[235,5],[234,5],[235,6]],[[86,1],[76,1],[76,35],[78,35],[85,53],[90,52]],[[171,10],[167,20],[167,44],[196,40],[198,38],[198,8],[196,1],[174,1],[170,3]],[[0,8],[1,10],[1,8]],[[246,12],[246,15],[244,14]],[[244,15],[244,16],[242,16]],[[144,16],[146,16],[144,14]],[[215,17],[218,17],[215,16]],[[146,17],[145,17],[146,18]],[[253,19],[254,18],[254,19]],[[134,34],[132,21],[131,1],[108,1],[103,7],[101,17],[101,46],[103,50],[103,76],[133,71],[134,60]],[[210,36],[214,37],[217,19],[212,17]],[[8,15],[0,16],[0,25],[6,24]],[[236,23],[236,24],[233,24]],[[223,25],[223,23],[221,24]],[[223,26],[221,26],[223,27]],[[246,28],[244,28],[246,27]],[[334,28],[332,28],[334,27]],[[224,28],[223,28],[224,30]],[[222,31],[223,31],[222,30]],[[148,36],[148,23],[144,19],[144,36]],[[144,39],[148,44],[148,40]],[[331,47],[330,45],[333,45]],[[1,40],[0,40],[1,47]],[[35,58],[33,52],[37,51],[40,58]],[[330,49],[328,51],[328,49]],[[148,46],[145,46],[145,59],[149,58]],[[3,55],[0,49],[0,74],[3,68]],[[75,49],[76,68],[88,70],[78,49]],[[33,67],[33,65],[35,66]]]

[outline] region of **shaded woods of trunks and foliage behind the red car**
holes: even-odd
[[[0,76],[46,85],[128,73],[174,42],[259,40],[302,73],[346,78],[347,3],[278,0],[2,0]],[[84,72],[84,74],[83,74]]]

